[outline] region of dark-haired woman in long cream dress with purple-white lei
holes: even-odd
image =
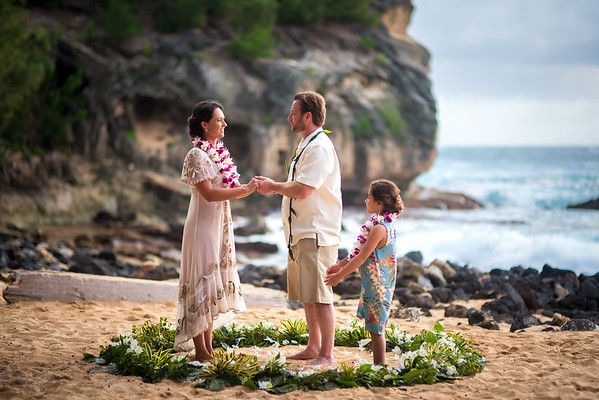
[[[212,352],[213,321],[245,310],[229,200],[248,196],[258,185],[255,179],[239,184],[237,167],[220,141],[227,123],[219,103],[198,103],[187,122],[194,147],[181,173],[191,186],[191,201],[181,245],[175,347],[193,338],[195,360],[205,361]]]

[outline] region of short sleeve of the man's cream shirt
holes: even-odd
[[[295,180],[304,185],[320,189],[327,177],[333,172],[334,157],[324,146],[308,145],[301,155]]]

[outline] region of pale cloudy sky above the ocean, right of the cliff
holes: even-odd
[[[599,1],[413,3],[440,146],[599,145]]]

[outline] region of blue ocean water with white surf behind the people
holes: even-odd
[[[407,210],[398,226],[401,254],[419,250],[424,263],[439,258],[482,271],[550,264],[599,272],[599,211],[566,209],[599,197],[599,147],[440,148],[417,183],[464,193],[485,207]],[[365,217],[365,210],[344,210],[342,247],[351,248]],[[240,261],[284,267],[280,214],[266,220],[270,233],[238,240],[277,243],[281,251]]]

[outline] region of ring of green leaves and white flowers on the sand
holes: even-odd
[[[192,381],[198,387],[222,390],[244,385],[270,393],[293,390],[329,390],[334,388],[402,386],[434,383],[481,372],[488,363],[471,342],[458,333],[445,332],[435,323],[432,331],[411,335],[390,324],[385,332],[387,350],[393,352],[393,365],[358,365],[340,363],[328,370],[293,371],[288,369],[279,346],[305,344],[306,323],[285,320],[276,327],[268,322],[255,325],[230,324],[213,333],[213,352],[207,363],[190,363],[186,356],[174,352],[175,329],[160,318],[157,324],[146,322],[134,326],[131,333],[114,337],[100,347],[99,356],[85,354],[83,359],[95,362],[96,369],[120,375],[140,376],[144,382],[168,378]],[[335,331],[335,345],[368,349],[368,332],[358,321]],[[242,347],[273,347],[264,364],[254,355],[237,353]]]

